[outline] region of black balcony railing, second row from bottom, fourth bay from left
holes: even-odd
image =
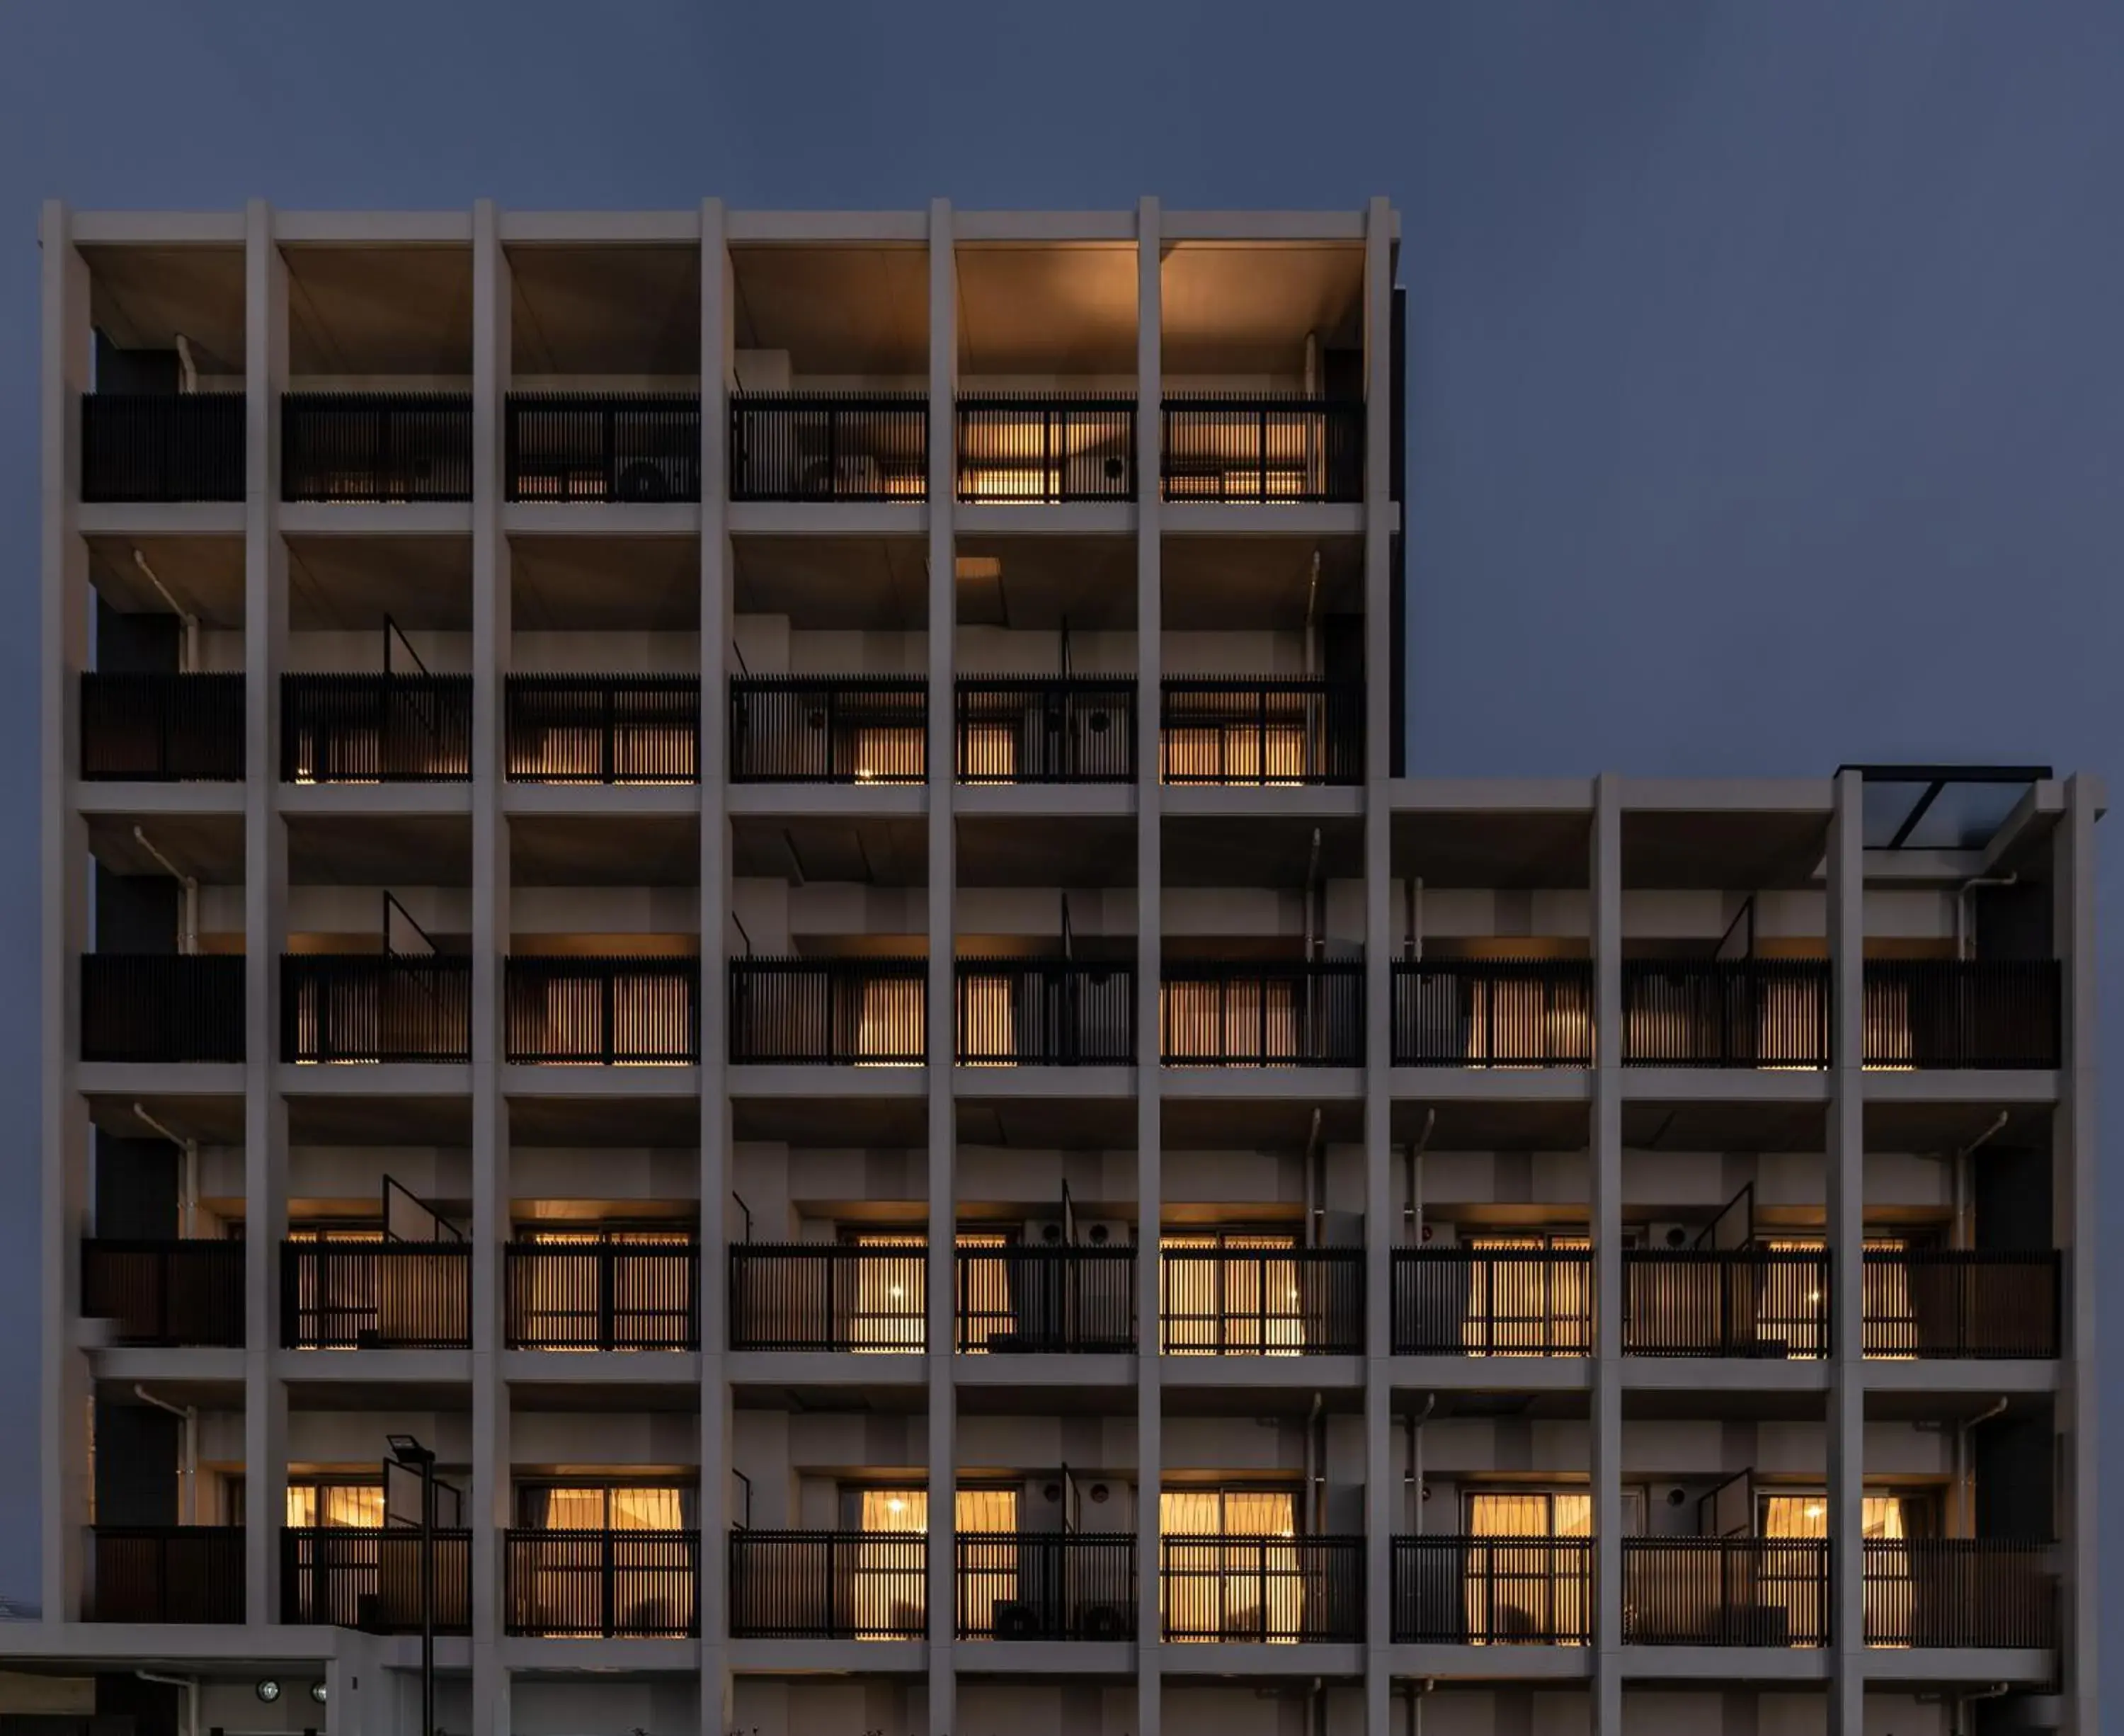
[[[737,1243],[731,1349],[920,1351],[926,1283],[918,1243]]]

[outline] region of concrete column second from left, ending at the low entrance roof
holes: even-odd
[[[251,1621],[280,1615],[287,1521],[287,1390],[280,1237],[287,1235],[287,1101],[280,952],[287,831],[280,822],[280,669],[287,544],[280,542],[280,391],[287,387],[287,266],[272,208],[244,208],[244,1592]]]

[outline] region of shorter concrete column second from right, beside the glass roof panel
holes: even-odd
[[[1829,1736],[1865,1736],[1865,780],[1839,771],[1829,895]]]

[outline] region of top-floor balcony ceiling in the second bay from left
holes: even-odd
[[[287,246],[289,374],[469,380],[469,246]]]

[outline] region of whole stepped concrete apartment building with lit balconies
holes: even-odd
[[[1385,202],[40,240],[47,1700],[2096,1730],[2101,788],[1404,776]]]

